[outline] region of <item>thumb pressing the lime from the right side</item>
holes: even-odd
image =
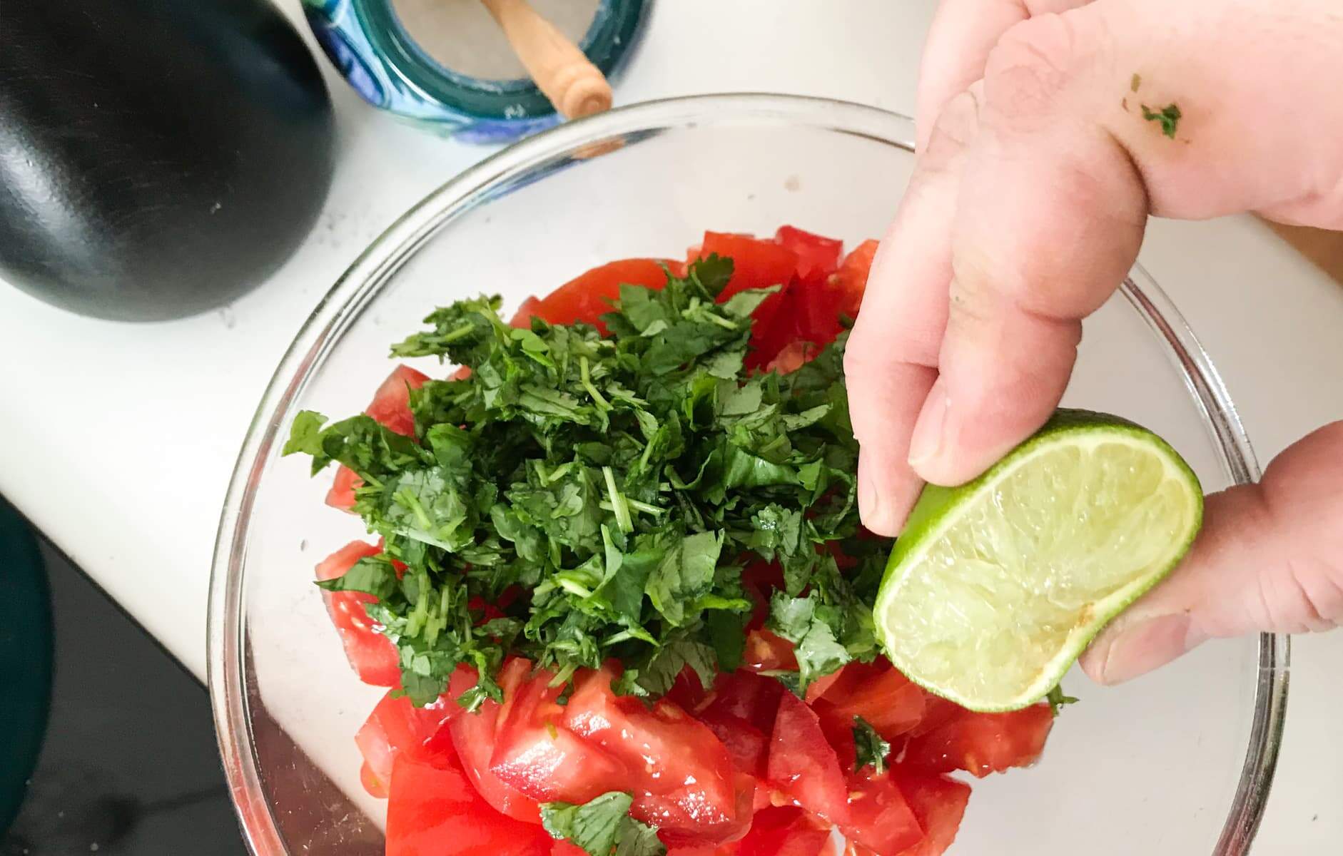
[[[1288,448],[1258,484],[1209,496],[1205,519],[1185,562],[1082,655],[1093,680],[1136,678],[1207,639],[1343,623],[1343,421]]]

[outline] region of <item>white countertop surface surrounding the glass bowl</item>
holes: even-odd
[[[282,5],[299,20],[297,0]],[[663,0],[616,99],[757,90],[911,113],[933,5]],[[197,676],[219,507],[279,356],[360,250],[489,153],[392,121],[332,74],[328,83],[340,136],[330,197],[302,248],[252,294],[197,318],[125,325],[0,288],[0,494]],[[1343,417],[1343,288],[1266,228],[1156,223],[1142,262],[1211,353],[1264,462]],[[1343,632],[1296,640],[1256,853],[1343,849],[1339,664]]]

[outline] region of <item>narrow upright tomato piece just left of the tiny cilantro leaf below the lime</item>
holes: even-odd
[[[779,699],[766,778],[808,812],[833,824],[847,820],[839,757],[821,730],[817,714],[791,692]]]

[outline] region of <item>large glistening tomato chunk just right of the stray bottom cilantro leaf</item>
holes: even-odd
[[[741,790],[749,784],[737,781],[713,731],[667,699],[650,708],[618,696],[611,672],[600,670],[577,682],[564,726],[624,763],[630,814],[657,826],[666,844],[724,843],[745,832],[753,794]]]

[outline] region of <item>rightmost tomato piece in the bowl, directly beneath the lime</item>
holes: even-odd
[[[932,731],[912,738],[902,765],[909,770],[950,773],[966,770],[983,778],[1035,762],[1054,725],[1049,704],[1033,704],[1007,714],[964,711]]]

